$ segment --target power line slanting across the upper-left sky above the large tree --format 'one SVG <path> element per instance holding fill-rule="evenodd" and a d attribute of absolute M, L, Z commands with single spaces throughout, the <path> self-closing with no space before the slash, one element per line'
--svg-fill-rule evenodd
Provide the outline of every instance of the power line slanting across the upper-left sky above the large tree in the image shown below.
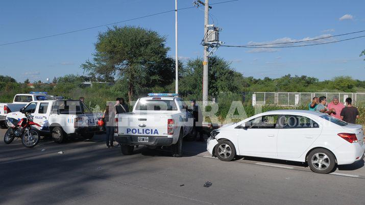
<path fill-rule="evenodd" d="M 225 2 L 217 2 L 217 3 L 213 3 L 211 5 L 224 4 L 224 3 L 237 2 L 237 1 L 239 1 L 239 0 L 231 0 L 231 1 L 225 1 Z M 196 8 L 196 7 L 191 6 L 191 7 L 181 8 L 181 9 L 178 9 L 178 10 L 185 10 L 185 9 L 191 9 L 191 8 Z M 165 14 L 165 13 L 169 13 L 169 12 L 173 12 L 173 11 L 175 11 L 175 9 L 168 10 L 168 11 L 163 11 L 163 12 L 159 12 L 159 13 L 154 13 L 154 14 L 150 14 L 150 15 L 140 16 L 140 17 L 136 17 L 136 18 L 130 18 L 130 19 L 122 20 L 122 21 L 118 21 L 118 22 L 113 22 L 113 23 L 108 23 L 108 24 L 103 24 L 103 25 L 96 25 L 94 27 L 89 27 L 89 28 L 85 28 L 85 29 L 79 29 L 79 30 L 74 30 L 74 31 L 69 31 L 69 32 L 64 32 L 64 33 L 49 35 L 49 36 L 38 37 L 38 38 L 31 38 L 31 39 L 27 39 L 27 40 L 21 40 L 21 41 L 14 41 L 14 42 L 9 42 L 9 43 L 3 43 L 3 44 L 0 44 L 0 46 L 10 45 L 10 44 L 15 44 L 15 43 L 21 43 L 21 42 L 27 42 L 27 41 L 34 41 L 34 40 L 39 40 L 39 39 L 44 39 L 44 38 L 50 38 L 50 37 L 61 36 L 61 35 L 65 35 L 65 34 L 71 34 L 71 33 L 86 31 L 86 30 L 90 30 L 90 29 L 96 29 L 96 28 L 100 28 L 100 27 L 106 27 L 107 25 L 113 25 L 113 24 L 117 24 L 117 23 L 123 23 L 123 22 L 127 22 L 127 21 L 137 20 L 137 19 L 141 19 L 141 18 L 147 18 L 147 17 L 156 16 L 156 15 L 160 15 L 160 14 Z"/>

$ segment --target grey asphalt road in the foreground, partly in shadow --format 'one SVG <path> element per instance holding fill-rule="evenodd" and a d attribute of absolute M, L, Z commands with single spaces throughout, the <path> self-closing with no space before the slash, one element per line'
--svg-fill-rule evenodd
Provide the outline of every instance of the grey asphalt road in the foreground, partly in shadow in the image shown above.
<path fill-rule="evenodd" d="M 184 142 L 182 158 L 147 148 L 123 156 L 98 142 L 103 136 L 25 148 L 20 140 L 6 145 L 4 133 L 2 204 L 365 204 L 363 161 L 334 172 L 342 175 L 315 174 L 301 163 L 221 162 L 207 155 L 203 142 Z"/>

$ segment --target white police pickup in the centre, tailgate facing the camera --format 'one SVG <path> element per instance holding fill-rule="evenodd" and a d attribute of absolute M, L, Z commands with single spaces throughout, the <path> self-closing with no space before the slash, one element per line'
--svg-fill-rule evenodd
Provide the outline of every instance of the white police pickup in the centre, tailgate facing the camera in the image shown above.
<path fill-rule="evenodd" d="M 173 157 L 181 157 L 182 139 L 192 126 L 193 116 L 177 94 L 150 93 L 136 101 L 132 112 L 115 116 L 114 139 L 124 155 L 132 155 L 134 145 L 146 145 L 172 146 Z"/>

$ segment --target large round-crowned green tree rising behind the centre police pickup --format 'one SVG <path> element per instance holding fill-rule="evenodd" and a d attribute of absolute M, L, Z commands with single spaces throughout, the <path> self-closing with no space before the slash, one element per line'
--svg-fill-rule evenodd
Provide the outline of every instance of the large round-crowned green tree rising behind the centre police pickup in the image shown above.
<path fill-rule="evenodd" d="M 109 28 L 99 34 L 92 61 L 81 67 L 98 79 L 123 81 L 131 101 L 136 91 L 174 79 L 174 63 L 167 57 L 165 40 L 157 32 L 140 27 Z"/>

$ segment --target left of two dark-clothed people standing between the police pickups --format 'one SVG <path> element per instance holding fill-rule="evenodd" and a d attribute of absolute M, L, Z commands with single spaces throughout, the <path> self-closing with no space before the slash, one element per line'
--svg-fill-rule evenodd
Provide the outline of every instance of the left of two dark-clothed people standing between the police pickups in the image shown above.
<path fill-rule="evenodd" d="M 108 102 L 107 107 L 105 108 L 103 114 L 103 120 L 105 122 L 105 130 L 106 130 L 106 143 L 107 147 L 114 147 L 114 117 L 115 117 L 115 109 L 112 102 Z"/>

